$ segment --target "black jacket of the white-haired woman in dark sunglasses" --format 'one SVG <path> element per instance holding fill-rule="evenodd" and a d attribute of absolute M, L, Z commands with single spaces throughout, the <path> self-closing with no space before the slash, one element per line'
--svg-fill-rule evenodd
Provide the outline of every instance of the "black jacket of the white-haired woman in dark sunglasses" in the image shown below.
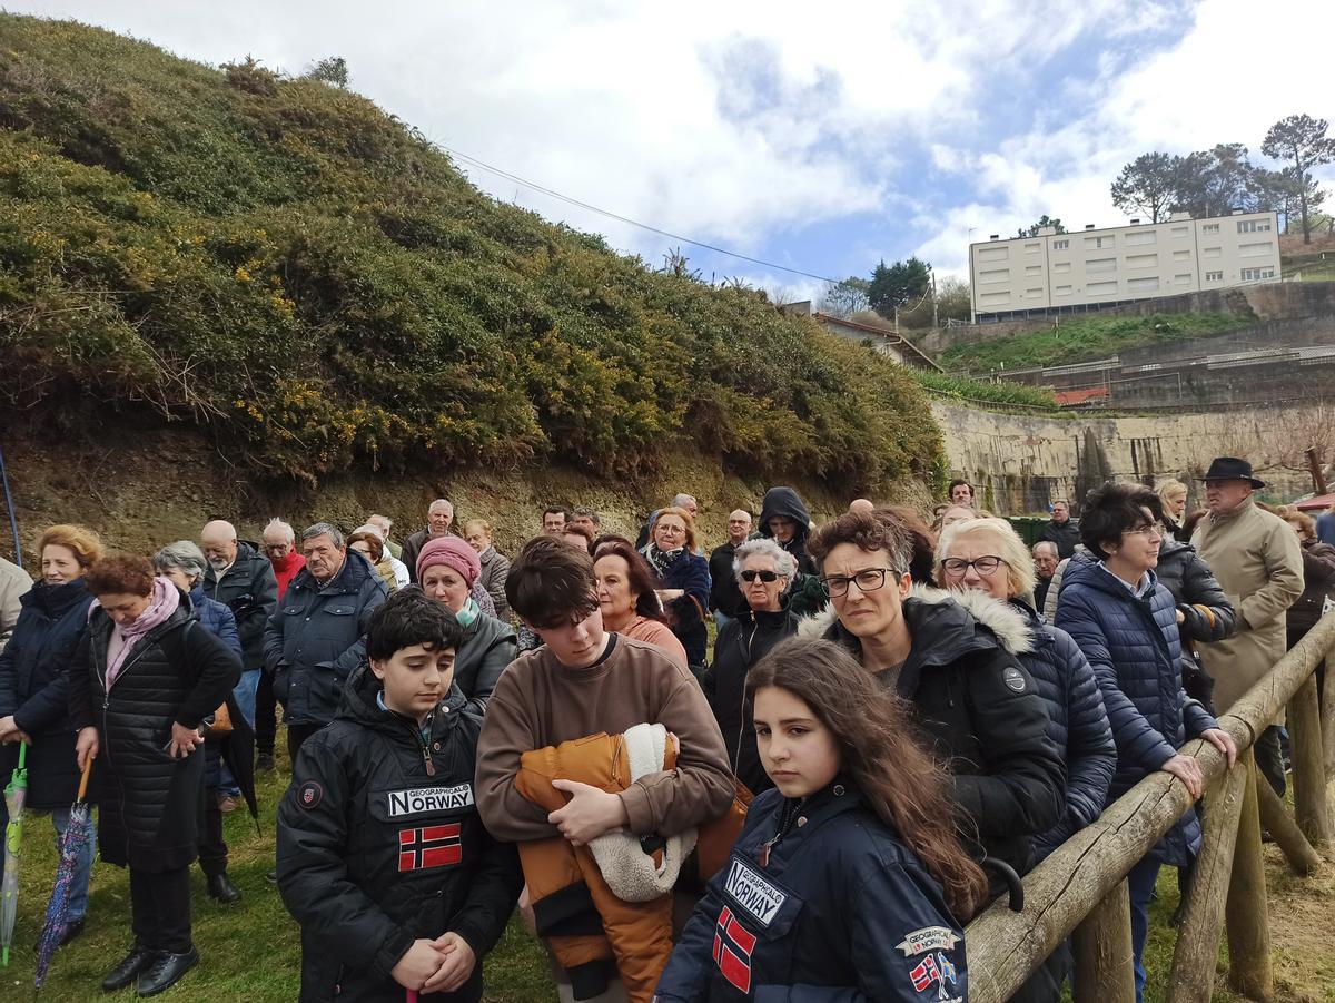
<path fill-rule="evenodd" d="M 714 664 L 701 678 L 709 708 L 724 733 L 728 763 L 753 793 L 774 784 L 760 763 L 752 705 L 746 698 L 746 673 L 785 637 L 797 633 L 801 617 L 789 609 L 753 613 L 750 606 L 724 628 L 714 642 Z"/>

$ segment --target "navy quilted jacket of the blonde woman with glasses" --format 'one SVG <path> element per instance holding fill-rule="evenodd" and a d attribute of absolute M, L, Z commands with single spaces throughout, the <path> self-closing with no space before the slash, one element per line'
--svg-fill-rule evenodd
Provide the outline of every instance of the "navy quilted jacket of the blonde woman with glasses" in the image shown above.
<path fill-rule="evenodd" d="M 1048 737 L 1067 760 L 1067 807 L 1061 821 L 1033 839 L 1041 860 L 1103 813 L 1117 768 L 1117 747 L 1093 668 L 1061 628 L 1048 626 L 1024 602 L 1012 602 L 1029 625 L 1029 650 L 1020 664 L 1048 705 Z"/>

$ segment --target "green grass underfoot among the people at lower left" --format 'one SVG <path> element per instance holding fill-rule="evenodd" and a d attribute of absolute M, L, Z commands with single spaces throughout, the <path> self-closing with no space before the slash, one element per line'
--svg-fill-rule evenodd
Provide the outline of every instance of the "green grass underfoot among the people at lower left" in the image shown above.
<path fill-rule="evenodd" d="M 279 744 L 282 745 L 282 736 Z M 228 873 L 242 891 L 235 906 L 219 906 L 204 893 L 204 879 L 192 868 L 194 932 L 202 962 L 163 1000 L 246 1000 L 291 1003 L 300 984 L 300 938 L 283 908 L 278 888 L 264 880 L 274 865 L 274 817 L 287 784 L 279 773 L 262 779 L 260 825 L 244 811 L 226 816 Z M 9 968 L 0 970 L 0 1000 L 32 999 L 35 946 L 41 930 L 56 851 L 48 817 L 29 816 L 23 841 L 19 922 Z M 91 1000 L 99 983 L 129 948 L 128 873 L 100 860 L 93 867 L 88 926 L 83 936 L 56 952 L 41 1000 Z M 519 922 L 511 920 L 486 959 L 486 999 L 493 1003 L 551 1003 L 557 999 L 542 948 Z M 107 999 L 134 998 L 132 992 Z"/>

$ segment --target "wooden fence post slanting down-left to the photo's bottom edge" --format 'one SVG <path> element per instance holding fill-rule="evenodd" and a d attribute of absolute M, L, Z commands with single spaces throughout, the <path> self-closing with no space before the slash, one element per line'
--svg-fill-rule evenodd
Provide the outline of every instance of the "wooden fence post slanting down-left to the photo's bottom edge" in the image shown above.
<path fill-rule="evenodd" d="M 1187 893 L 1187 915 L 1177 934 L 1168 982 L 1169 1003 L 1210 1003 L 1215 992 L 1219 934 L 1224 924 L 1238 821 L 1247 768 L 1238 764 L 1206 793 L 1204 840 Z"/>

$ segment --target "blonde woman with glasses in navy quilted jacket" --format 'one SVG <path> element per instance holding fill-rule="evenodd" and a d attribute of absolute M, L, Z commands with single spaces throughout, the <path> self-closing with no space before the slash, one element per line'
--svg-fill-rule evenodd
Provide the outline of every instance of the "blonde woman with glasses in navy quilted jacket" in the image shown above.
<path fill-rule="evenodd" d="M 1029 605 L 1033 561 L 1009 522 L 995 517 L 949 526 L 936 546 L 937 584 L 959 593 L 977 614 L 988 604 L 1015 614 L 997 637 L 1029 670 L 1048 708 L 1048 736 L 1067 764 L 1067 799 L 1061 821 L 1035 837 L 1043 860 L 1103 813 L 1117 765 L 1117 748 L 1103 707 L 1099 681 L 1071 634 L 1043 622 Z"/>

